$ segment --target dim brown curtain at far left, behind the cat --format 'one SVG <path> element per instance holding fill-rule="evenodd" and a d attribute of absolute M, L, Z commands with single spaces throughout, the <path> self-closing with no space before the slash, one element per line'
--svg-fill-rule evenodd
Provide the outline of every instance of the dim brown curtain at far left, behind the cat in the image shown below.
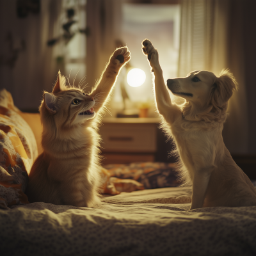
<path fill-rule="evenodd" d="M 1 1 L 0 5 L 0 59 L 12 58 L 12 52 L 20 48 L 21 41 L 26 45 L 17 55 L 13 67 L 1 63 L 0 88 L 12 93 L 18 108 L 36 111 L 43 90 L 51 90 L 58 72 L 54 49 L 47 46 L 47 40 L 57 36 L 56 21 L 61 0 L 41 1 L 40 13 L 29 13 L 23 19 L 17 17 L 16 1 Z M 12 51 L 6 41 L 8 33 L 13 38 Z"/>

